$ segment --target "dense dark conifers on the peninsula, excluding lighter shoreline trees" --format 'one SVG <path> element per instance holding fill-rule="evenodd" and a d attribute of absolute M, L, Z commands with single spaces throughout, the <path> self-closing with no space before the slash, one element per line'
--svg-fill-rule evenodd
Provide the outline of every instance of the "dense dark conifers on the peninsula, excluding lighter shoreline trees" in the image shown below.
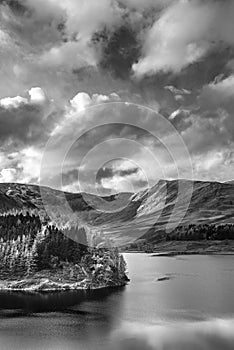
<path fill-rule="evenodd" d="M 0 271 L 2 276 L 29 275 L 61 267 L 62 262 L 79 263 L 87 253 L 84 228 L 59 230 L 42 225 L 27 213 L 0 216 Z"/>

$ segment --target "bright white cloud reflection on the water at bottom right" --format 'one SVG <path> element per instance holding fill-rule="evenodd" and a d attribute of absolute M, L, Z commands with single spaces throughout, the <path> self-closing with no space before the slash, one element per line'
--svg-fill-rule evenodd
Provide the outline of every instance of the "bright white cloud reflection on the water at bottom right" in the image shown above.
<path fill-rule="evenodd" d="M 125 324 L 113 336 L 113 350 L 233 350 L 234 319 Z"/>

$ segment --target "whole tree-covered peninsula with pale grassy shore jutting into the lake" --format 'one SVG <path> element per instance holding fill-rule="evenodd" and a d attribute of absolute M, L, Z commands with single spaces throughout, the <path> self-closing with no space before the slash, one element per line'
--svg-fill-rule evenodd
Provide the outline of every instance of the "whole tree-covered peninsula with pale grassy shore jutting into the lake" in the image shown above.
<path fill-rule="evenodd" d="M 35 214 L 0 216 L 0 290 L 97 289 L 127 283 L 115 248 L 88 247 L 84 227 L 59 229 Z"/>

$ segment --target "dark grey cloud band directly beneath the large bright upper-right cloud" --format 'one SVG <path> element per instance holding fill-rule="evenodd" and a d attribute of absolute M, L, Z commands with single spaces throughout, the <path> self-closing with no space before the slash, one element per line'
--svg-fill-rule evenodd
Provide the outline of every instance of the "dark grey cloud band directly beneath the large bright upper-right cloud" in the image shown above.
<path fill-rule="evenodd" d="M 227 77 L 230 74 L 227 63 L 232 57 L 234 57 L 233 50 L 221 45 L 218 50 L 210 52 L 199 62 L 186 67 L 180 74 L 159 72 L 136 81 L 136 86 L 145 100 L 158 101 L 160 108 L 169 110 L 171 113 L 172 109 L 175 110 L 181 105 L 194 104 L 199 90 L 212 82 L 220 73 Z M 186 89 L 191 91 L 191 94 L 184 96 L 182 102 L 176 101 L 175 94 L 165 90 L 168 85 L 177 89 Z"/>

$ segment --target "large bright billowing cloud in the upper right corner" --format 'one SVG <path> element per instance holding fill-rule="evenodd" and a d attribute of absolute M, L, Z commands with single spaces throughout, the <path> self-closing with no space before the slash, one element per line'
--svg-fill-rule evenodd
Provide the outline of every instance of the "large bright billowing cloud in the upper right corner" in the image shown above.
<path fill-rule="evenodd" d="M 234 6 L 227 2 L 180 0 L 172 3 L 146 35 L 136 76 L 179 73 L 220 42 L 233 45 Z"/>

